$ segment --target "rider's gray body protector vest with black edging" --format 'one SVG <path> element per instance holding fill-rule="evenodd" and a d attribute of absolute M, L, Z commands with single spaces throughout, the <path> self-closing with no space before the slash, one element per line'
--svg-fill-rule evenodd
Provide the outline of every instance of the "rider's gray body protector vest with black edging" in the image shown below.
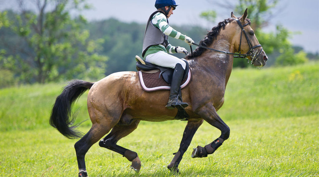
<path fill-rule="evenodd" d="M 144 58 L 144 55 L 145 55 L 147 49 L 150 48 L 151 46 L 156 46 L 156 45 L 161 44 L 166 48 L 168 45 L 168 40 L 167 40 L 168 36 L 166 34 L 164 34 L 162 31 L 160 31 L 159 28 L 155 27 L 152 24 L 152 21 L 151 21 L 152 17 L 157 12 L 163 13 L 165 15 L 165 13 L 163 11 L 155 11 L 154 13 L 152 13 L 150 18 L 148 19 L 147 25 L 145 28 L 144 39 L 143 39 L 143 50 L 142 50 L 143 51 L 142 52 L 143 58 Z M 168 24 L 168 20 L 167 20 L 167 24 Z"/>

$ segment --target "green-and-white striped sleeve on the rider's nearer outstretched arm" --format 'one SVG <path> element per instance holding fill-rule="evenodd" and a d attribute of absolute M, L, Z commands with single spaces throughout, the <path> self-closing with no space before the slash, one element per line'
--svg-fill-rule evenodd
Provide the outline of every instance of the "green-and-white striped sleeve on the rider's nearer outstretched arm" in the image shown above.
<path fill-rule="evenodd" d="M 158 27 L 164 34 L 175 39 L 185 39 L 185 35 L 174 30 L 171 26 L 167 24 L 167 19 L 164 14 L 158 12 L 152 18 L 152 24 Z"/>

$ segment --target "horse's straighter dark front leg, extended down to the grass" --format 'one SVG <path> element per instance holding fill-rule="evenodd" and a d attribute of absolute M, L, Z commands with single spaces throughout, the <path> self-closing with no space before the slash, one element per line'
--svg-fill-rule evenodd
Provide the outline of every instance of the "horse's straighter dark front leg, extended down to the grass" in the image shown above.
<path fill-rule="evenodd" d="M 178 152 L 174 153 L 175 156 L 171 163 L 167 166 L 169 170 L 174 170 L 175 172 L 178 172 L 178 165 L 182 160 L 182 157 L 184 153 L 186 152 L 190 142 L 192 141 L 192 138 L 197 131 L 198 127 L 203 123 L 203 119 L 189 119 L 187 122 L 187 125 L 185 127 L 183 138 L 180 144 L 180 148 L 178 149 Z"/>

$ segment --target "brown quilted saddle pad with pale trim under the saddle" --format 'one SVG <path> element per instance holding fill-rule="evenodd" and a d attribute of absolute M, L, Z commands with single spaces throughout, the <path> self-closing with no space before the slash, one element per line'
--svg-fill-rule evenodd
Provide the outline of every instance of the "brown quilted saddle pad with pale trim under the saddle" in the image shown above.
<path fill-rule="evenodd" d="M 143 90 L 147 92 L 155 91 L 155 90 L 170 90 L 171 87 L 169 84 L 164 80 L 163 76 L 160 75 L 160 71 L 156 73 L 145 73 L 142 71 L 138 71 L 138 76 L 140 78 L 140 83 Z M 181 87 L 184 88 L 189 84 L 191 79 L 190 70 L 188 75 L 185 79 L 182 80 Z"/>

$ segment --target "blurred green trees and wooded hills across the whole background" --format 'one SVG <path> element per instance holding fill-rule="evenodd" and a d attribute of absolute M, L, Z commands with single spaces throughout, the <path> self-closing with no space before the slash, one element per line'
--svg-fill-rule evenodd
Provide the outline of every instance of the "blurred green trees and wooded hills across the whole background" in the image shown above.
<path fill-rule="evenodd" d="M 88 7 L 85 0 L 35 0 L 33 2 L 39 2 L 38 10 L 26 10 L 23 4 L 26 0 L 18 1 L 21 2 L 20 11 L 0 12 L 1 87 L 69 79 L 95 81 L 114 72 L 136 71 L 134 57 L 142 53 L 145 24 L 124 23 L 114 18 L 92 22 L 86 22 L 82 16 L 71 18 L 70 11 L 81 11 Z M 218 1 L 215 5 L 222 3 L 224 1 Z M 238 8 L 241 6 L 238 5 Z M 267 11 L 259 15 L 263 18 L 255 18 L 263 19 L 255 33 L 269 57 L 267 66 L 297 64 L 307 61 L 307 57 L 318 60 L 318 53 L 305 56 L 302 48 L 292 47 L 289 42 L 292 33 L 283 26 L 278 25 L 275 32 L 263 32 L 262 27 L 267 24 L 264 15 L 273 7 L 270 5 L 265 8 L 262 3 L 259 6 L 259 9 Z M 240 16 L 243 11 L 238 9 L 235 15 Z M 253 14 L 255 10 L 251 11 Z M 209 18 L 210 15 L 213 18 Z M 215 18 L 211 12 L 203 13 L 202 16 L 211 20 Z M 249 18 L 253 25 L 254 15 L 249 14 Z M 196 43 L 207 34 L 206 29 L 200 26 L 173 25 L 173 28 L 191 36 Z M 182 40 L 169 38 L 169 42 L 190 51 Z M 185 56 L 174 55 L 179 58 Z M 235 59 L 236 66 L 248 67 L 250 64 L 247 60 Z"/>

